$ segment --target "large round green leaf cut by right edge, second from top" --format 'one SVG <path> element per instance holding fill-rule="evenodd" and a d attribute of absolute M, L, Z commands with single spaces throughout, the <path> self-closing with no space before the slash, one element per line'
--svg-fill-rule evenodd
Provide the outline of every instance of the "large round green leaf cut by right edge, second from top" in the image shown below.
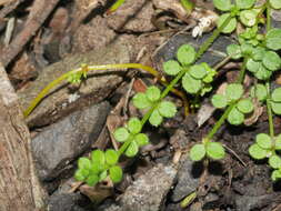
<path fill-rule="evenodd" d="M 265 44 L 269 49 L 280 50 L 281 49 L 281 29 L 271 29 L 265 36 Z"/>

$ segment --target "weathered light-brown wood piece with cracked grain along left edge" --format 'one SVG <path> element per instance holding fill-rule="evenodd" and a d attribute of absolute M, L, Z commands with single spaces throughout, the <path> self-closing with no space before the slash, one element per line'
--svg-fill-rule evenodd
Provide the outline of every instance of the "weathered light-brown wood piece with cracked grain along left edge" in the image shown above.
<path fill-rule="evenodd" d="M 0 113 L 0 210 L 36 210 L 43 205 L 44 192 L 34 174 L 30 133 L 2 66 Z"/>

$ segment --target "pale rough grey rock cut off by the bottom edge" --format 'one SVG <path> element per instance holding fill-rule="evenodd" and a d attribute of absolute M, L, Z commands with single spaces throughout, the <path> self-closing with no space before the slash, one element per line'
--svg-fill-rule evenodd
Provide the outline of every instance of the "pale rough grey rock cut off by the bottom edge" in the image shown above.
<path fill-rule="evenodd" d="M 177 175 L 172 165 L 158 164 L 141 175 L 121 197 L 119 205 L 104 211 L 160 211 Z"/>

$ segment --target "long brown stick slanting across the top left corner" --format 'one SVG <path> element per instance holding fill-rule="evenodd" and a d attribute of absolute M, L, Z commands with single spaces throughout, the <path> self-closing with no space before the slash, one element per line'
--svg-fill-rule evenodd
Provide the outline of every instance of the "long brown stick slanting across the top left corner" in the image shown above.
<path fill-rule="evenodd" d="M 7 67 L 40 29 L 60 0 L 36 0 L 22 31 L 1 52 L 0 61 Z"/>

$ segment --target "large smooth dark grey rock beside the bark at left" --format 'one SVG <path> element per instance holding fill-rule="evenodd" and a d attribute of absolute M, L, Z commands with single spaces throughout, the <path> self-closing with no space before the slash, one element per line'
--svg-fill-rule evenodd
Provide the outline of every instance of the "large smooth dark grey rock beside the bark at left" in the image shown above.
<path fill-rule="evenodd" d="M 38 175 L 42 181 L 57 178 L 68 164 L 90 148 L 110 111 L 108 102 L 77 111 L 39 133 L 32 142 Z"/>

